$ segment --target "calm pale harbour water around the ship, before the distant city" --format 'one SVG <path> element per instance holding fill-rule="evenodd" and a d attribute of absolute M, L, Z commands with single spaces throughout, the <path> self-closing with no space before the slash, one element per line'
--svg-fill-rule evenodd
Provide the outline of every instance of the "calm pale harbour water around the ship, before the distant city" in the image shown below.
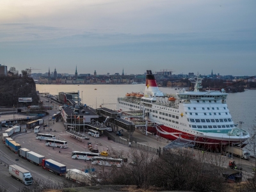
<path fill-rule="evenodd" d="M 95 90 L 97 89 L 97 90 Z M 109 109 L 116 109 L 118 97 L 124 97 L 126 93 L 143 92 L 145 84 L 36 84 L 39 92 L 57 95 L 58 92 L 77 92 L 84 104 L 99 108 L 100 105 Z M 179 90 L 174 88 L 159 87 L 164 93 L 175 94 Z M 82 93 L 83 92 L 83 93 Z M 234 123 L 244 122 L 243 129 L 249 130 L 256 124 L 256 90 L 246 90 L 242 93 L 229 93 L 227 104 Z M 102 107 L 103 107 L 102 106 Z"/>

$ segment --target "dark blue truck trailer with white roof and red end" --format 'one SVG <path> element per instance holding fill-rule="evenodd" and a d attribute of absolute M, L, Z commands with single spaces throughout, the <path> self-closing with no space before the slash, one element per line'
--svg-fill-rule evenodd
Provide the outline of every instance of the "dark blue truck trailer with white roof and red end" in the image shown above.
<path fill-rule="evenodd" d="M 54 173 L 55 175 L 64 175 L 67 170 L 65 164 L 58 163 L 52 159 L 43 159 L 42 168 Z"/>

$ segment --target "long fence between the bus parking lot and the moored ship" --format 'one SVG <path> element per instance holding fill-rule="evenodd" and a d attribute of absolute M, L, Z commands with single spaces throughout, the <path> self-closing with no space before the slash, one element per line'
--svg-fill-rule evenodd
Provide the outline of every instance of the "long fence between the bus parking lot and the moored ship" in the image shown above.
<path fill-rule="evenodd" d="M 113 136 L 108 131 L 104 131 L 104 134 L 116 143 L 120 143 L 120 144 L 126 145 L 126 146 L 130 145 L 129 141 L 127 141 L 125 138 Z M 135 141 L 131 142 L 131 147 L 138 148 L 138 149 L 141 149 L 141 150 L 146 150 L 148 152 L 157 153 L 156 148 L 149 147 L 147 145 L 142 145 L 142 144 L 136 143 Z"/>

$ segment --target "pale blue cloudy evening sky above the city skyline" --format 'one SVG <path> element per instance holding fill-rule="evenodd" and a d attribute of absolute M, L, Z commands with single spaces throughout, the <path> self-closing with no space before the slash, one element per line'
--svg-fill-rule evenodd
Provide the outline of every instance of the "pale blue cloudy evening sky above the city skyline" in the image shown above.
<path fill-rule="evenodd" d="M 256 75 L 256 1 L 1 0 L 0 63 L 74 74 Z"/>

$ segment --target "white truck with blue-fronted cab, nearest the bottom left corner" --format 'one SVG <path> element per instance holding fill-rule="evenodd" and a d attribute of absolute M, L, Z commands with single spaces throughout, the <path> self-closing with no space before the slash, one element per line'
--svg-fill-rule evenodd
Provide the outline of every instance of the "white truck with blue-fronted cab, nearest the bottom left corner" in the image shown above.
<path fill-rule="evenodd" d="M 19 180 L 26 186 L 33 184 L 31 173 L 16 164 L 9 165 L 9 174 L 12 175 L 13 179 Z"/>

